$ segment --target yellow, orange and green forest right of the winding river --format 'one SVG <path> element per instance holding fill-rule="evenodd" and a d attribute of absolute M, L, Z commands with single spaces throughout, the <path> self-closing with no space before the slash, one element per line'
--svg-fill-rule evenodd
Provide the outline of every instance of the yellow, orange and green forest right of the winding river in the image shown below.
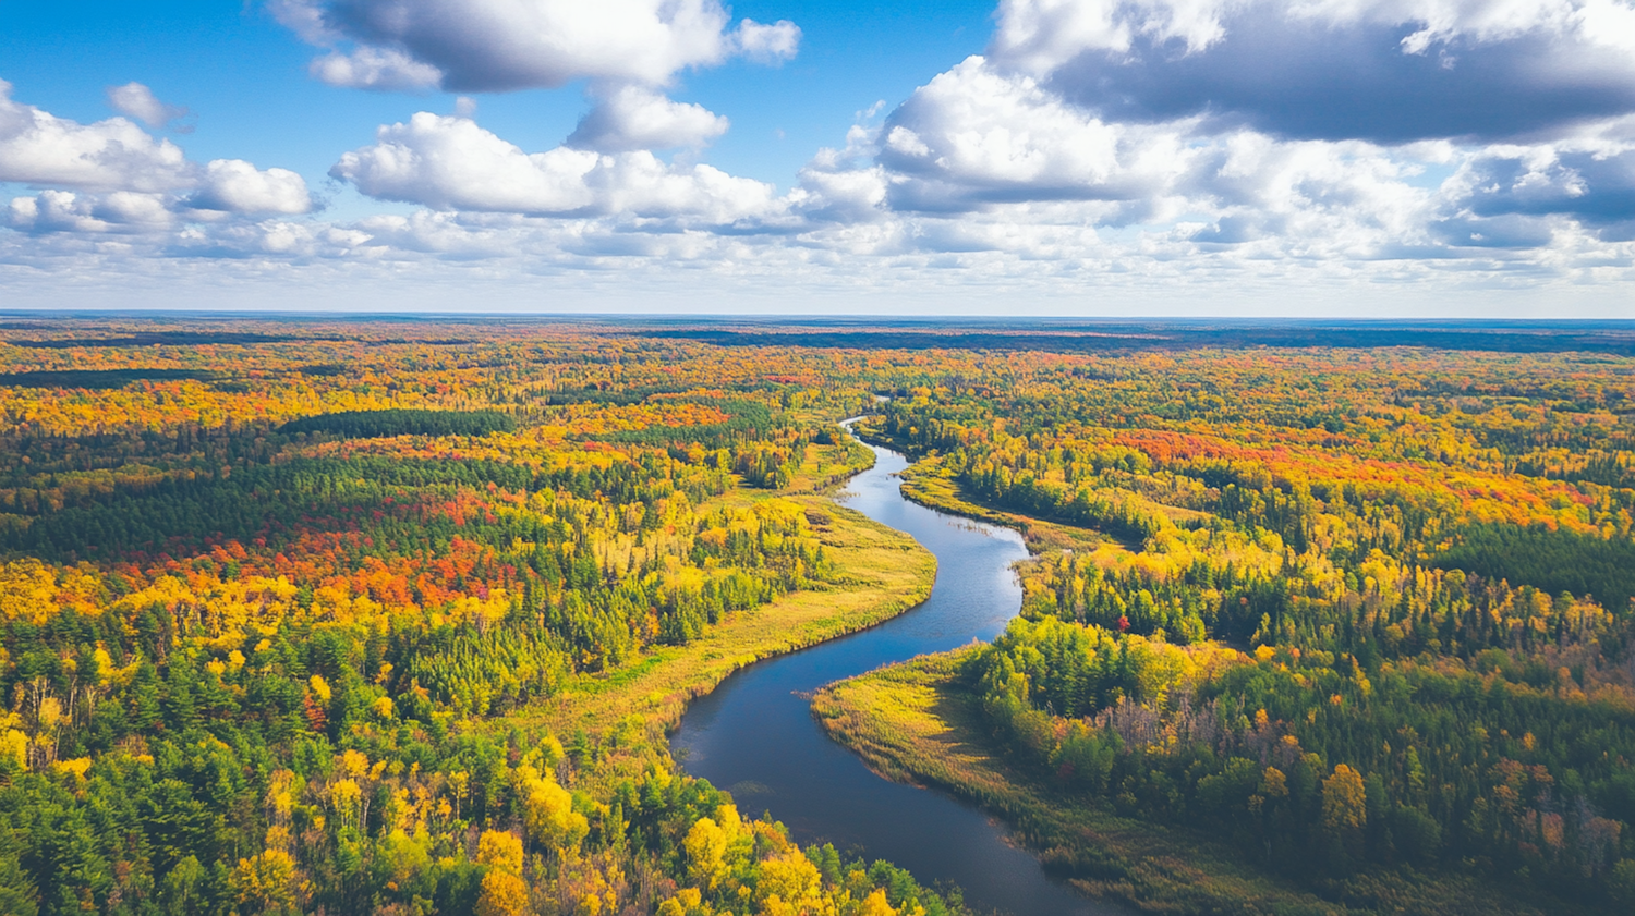
<path fill-rule="evenodd" d="M 1019 759 L 1295 877 L 1635 905 L 1627 361 L 1012 359 L 904 394 L 909 491 L 1043 522 L 966 671 Z"/>

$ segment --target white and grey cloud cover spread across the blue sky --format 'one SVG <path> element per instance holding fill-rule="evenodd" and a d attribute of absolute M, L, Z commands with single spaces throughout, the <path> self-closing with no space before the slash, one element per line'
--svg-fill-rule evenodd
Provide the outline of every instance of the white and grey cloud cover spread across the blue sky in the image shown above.
<path fill-rule="evenodd" d="M 276 10 L 334 85 L 585 80 L 590 111 L 540 152 L 469 104 L 384 124 L 329 175 L 422 209 L 329 222 L 302 216 L 291 171 L 193 163 L 131 119 L 78 124 L 0 91 L 0 181 L 36 189 L 11 201 L 21 233 L 0 233 L 0 260 L 88 256 L 123 233 L 132 258 L 685 269 L 778 289 L 1635 279 L 1628 0 L 1002 0 L 981 56 L 860 121 L 782 191 L 697 162 L 728 119 L 665 90 L 732 57 L 790 59 L 790 23 L 734 24 L 706 0 Z M 173 119 L 128 95 L 129 118 Z"/>

